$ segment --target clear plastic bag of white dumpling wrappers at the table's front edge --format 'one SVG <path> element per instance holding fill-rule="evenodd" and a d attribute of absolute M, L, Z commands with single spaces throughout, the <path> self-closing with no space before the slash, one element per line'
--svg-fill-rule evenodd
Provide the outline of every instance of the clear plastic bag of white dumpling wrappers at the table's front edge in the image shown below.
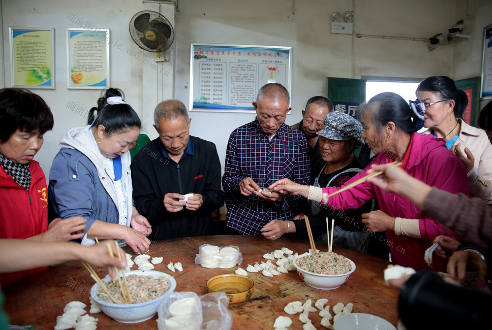
<path fill-rule="evenodd" d="M 169 306 L 171 306 L 173 302 L 187 297 L 195 298 L 195 304 L 192 308 L 191 317 L 184 324 L 180 323 L 177 327 L 175 324 L 173 326 L 172 322 L 166 322 L 166 320 L 173 317 L 173 315 L 169 312 Z M 194 292 L 175 291 L 169 297 L 162 300 L 161 304 L 157 308 L 157 315 L 159 316 L 157 318 L 157 329 L 159 330 L 199 330 L 200 325 L 202 324 L 202 305 L 200 297 L 198 297 L 198 295 Z"/>

